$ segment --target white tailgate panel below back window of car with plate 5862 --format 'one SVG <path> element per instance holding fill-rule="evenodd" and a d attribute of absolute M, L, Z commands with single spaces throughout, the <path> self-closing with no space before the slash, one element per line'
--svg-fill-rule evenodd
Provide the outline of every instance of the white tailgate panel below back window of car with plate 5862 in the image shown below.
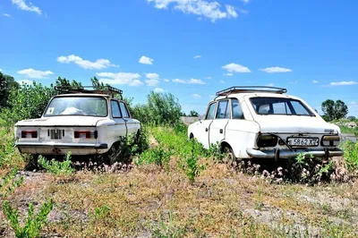
<path fill-rule="evenodd" d="M 255 121 L 262 133 L 340 133 L 337 125 L 314 116 L 260 115 Z"/>

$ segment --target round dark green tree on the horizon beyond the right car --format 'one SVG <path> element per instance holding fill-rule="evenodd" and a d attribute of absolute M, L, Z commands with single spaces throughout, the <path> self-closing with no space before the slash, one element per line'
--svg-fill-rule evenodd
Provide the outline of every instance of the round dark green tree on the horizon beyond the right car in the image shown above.
<path fill-rule="evenodd" d="M 342 100 L 337 100 L 336 102 L 327 99 L 322 102 L 322 112 L 327 117 L 328 121 L 338 120 L 344 118 L 348 114 L 348 106 L 345 105 L 345 102 Z"/>

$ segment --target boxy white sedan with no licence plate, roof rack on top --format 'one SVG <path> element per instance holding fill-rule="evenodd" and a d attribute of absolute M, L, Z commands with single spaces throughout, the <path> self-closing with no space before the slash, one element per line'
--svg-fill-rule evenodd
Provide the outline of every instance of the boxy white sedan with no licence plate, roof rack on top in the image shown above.
<path fill-rule="evenodd" d="M 139 135 L 141 123 L 133 119 L 122 97 L 112 87 L 85 89 L 56 87 L 41 118 L 15 124 L 15 147 L 31 155 L 110 155 L 122 138 Z M 64 93 L 65 92 L 65 93 Z"/>

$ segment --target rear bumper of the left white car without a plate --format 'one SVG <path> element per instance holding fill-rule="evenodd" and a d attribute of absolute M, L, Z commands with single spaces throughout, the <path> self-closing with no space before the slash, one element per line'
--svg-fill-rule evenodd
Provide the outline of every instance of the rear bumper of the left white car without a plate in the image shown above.
<path fill-rule="evenodd" d="M 32 155 L 65 155 L 71 151 L 72 155 L 96 155 L 106 153 L 106 143 L 54 143 L 54 142 L 16 142 L 15 147 L 21 153 Z"/>

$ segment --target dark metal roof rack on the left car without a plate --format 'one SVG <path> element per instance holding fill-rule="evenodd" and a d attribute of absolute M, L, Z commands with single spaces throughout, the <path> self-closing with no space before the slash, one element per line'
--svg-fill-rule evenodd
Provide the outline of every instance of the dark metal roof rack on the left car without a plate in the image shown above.
<path fill-rule="evenodd" d="M 115 95 L 120 95 L 121 98 L 123 91 L 121 89 L 115 89 L 111 86 L 100 86 L 100 89 L 96 89 L 93 86 L 55 86 L 55 90 L 58 91 L 59 94 L 64 93 L 98 93 L 98 94 L 106 94 L 115 97 Z"/>

